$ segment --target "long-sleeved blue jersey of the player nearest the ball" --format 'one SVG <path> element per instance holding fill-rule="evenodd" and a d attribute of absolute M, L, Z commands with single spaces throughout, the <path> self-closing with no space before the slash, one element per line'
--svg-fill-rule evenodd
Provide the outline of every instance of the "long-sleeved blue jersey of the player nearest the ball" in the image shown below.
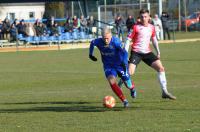
<path fill-rule="evenodd" d="M 90 44 L 90 55 L 93 55 L 94 46 L 96 46 L 100 51 L 104 68 L 116 67 L 122 65 L 123 63 L 128 63 L 128 54 L 123 49 L 123 44 L 119 38 L 112 37 L 108 45 L 105 44 L 103 38 L 93 40 Z"/>

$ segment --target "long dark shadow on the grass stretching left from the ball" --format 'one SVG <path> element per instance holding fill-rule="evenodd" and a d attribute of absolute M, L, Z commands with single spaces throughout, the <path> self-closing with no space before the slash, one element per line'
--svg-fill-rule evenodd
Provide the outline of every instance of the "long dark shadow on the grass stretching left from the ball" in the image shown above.
<path fill-rule="evenodd" d="M 0 113 L 26 113 L 26 112 L 106 112 L 106 111 L 123 111 L 123 107 L 115 107 L 112 109 L 104 108 L 103 106 L 94 106 L 98 102 L 21 102 L 21 103 L 3 103 L 3 105 L 20 105 L 20 107 L 29 108 L 13 108 L 0 109 Z M 41 106 L 38 106 L 40 105 Z M 46 106 L 46 105 L 56 106 Z M 66 104 L 66 106 L 58 106 Z M 21 106 L 22 105 L 22 106 Z M 37 105 L 35 107 L 34 105 Z M 42 106 L 44 105 L 44 106 Z"/>

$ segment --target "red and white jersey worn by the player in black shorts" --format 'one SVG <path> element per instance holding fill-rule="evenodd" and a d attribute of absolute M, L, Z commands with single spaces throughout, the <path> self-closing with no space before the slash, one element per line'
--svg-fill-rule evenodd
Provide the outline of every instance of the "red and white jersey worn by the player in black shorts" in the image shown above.
<path fill-rule="evenodd" d="M 132 39 L 133 42 L 131 50 L 144 54 L 152 52 L 150 40 L 153 37 L 155 37 L 155 27 L 152 24 L 148 24 L 148 26 L 142 24 L 134 25 L 132 33 L 128 35 L 128 38 Z"/>

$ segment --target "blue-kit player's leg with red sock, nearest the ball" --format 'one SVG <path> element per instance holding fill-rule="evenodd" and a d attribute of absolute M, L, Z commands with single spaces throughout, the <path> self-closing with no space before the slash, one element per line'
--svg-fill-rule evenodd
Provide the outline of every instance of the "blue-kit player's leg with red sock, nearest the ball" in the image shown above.
<path fill-rule="evenodd" d="M 116 80 L 117 72 L 113 69 L 105 69 L 105 75 L 106 75 L 106 78 L 107 78 L 113 92 L 123 102 L 124 107 L 127 107 L 128 101 L 127 101 L 126 97 L 124 96 L 120 87 L 117 85 L 117 80 Z"/>

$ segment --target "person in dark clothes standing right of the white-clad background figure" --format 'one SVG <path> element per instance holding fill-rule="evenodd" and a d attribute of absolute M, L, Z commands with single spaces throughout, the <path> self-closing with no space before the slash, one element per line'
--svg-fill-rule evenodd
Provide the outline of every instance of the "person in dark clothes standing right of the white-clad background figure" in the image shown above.
<path fill-rule="evenodd" d="M 162 21 L 162 27 L 163 27 L 164 40 L 166 40 L 166 33 L 167 33 L 168 39 L 170 40 L 169 15 L 167 14 L 167 12 L 162 12 L 161 21 Z"/>

